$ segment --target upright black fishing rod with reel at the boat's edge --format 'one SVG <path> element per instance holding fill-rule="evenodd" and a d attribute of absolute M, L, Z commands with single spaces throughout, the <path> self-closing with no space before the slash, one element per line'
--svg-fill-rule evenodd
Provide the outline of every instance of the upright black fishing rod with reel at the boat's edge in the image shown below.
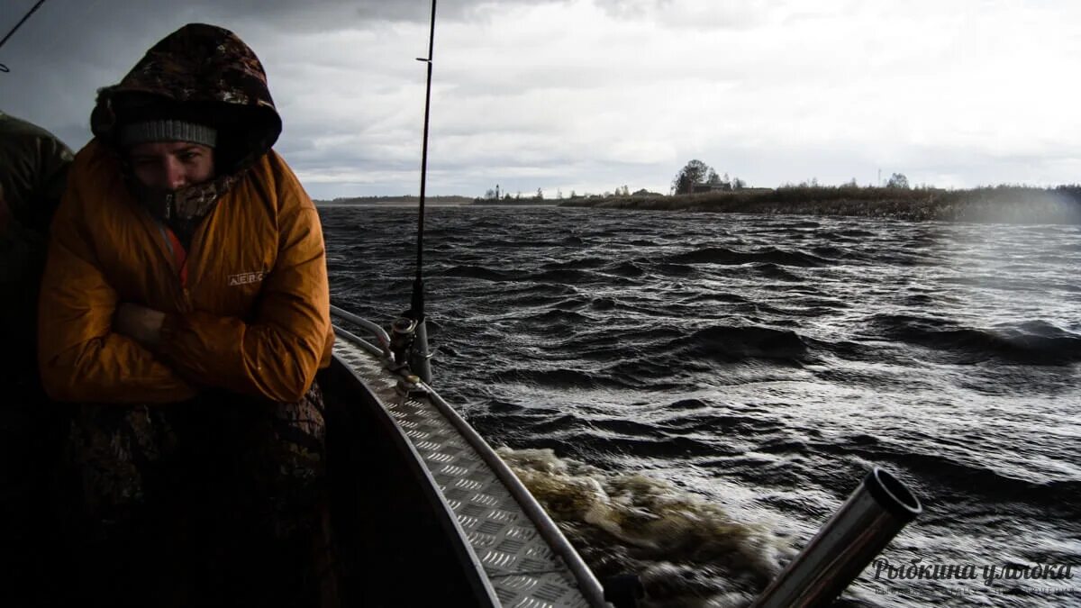
<path fill-rule="evenodd" d="M 416 220 L 416 278 L 410 309 L 391 323 L 390 351 L 395 361 L 408 366 L 410 371 L 431 382 L 431 353 L 428 351 L 428 327 L 424 314 L 424 207 L 428 183 L 428 123 L 431 116 L 431 66 L 436 45 L 436 0 L 431 0 L 431 22 L 428 30 L 428 56 L 417 57 L 428 66 L 428 82 L 424 97 L 424 135 L 421 146 L 421 198 Z"/>

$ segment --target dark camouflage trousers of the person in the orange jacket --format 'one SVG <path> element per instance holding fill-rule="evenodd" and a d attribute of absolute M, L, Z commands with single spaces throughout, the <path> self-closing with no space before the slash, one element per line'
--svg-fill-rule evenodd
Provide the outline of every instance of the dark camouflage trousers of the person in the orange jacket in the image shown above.
<path fill-rule="evenodd" d="M 138 561 L 158 555 L 172 561 L 147 576 L 168 571 L 168 580 L 147 584 L 173 589 L 176 605 L 254 602 L 253 589 L 267 594 L 261 605 L 311 605 L 323 584 L 311 566 L 332 561 L 324 438 L 316 384 L 295 404 L 213 393 L 170 405 L 81 406 L 69 448 L 85 546 L 121 554 L 118 565 L 135 556 L 123 569 L 93 573 L 99 581 L 91 584 L 142 578 L 132 574 L 149 567 Z M 199 591 L 186 596 L 177 576 Z"/>

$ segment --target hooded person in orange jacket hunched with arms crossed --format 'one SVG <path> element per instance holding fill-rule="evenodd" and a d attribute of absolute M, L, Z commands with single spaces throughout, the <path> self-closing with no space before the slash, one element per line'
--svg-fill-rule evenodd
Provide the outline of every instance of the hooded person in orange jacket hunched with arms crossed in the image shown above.
<path fill-rule="evenodd" d="M 238 546 L 307 555 L 330 294 L 319 215 L 271 149 L 281 119 L 262 64 L 232 32 L 187 25 L 98 91 L 91 130 L 52 224 L 38 346 L 46 393 L 80 404 L 71 449 L 97 538 L 137 542 L 125 524 L 184 504 L 211 545 L 255 530 L 193 579 L 239 576 Z M 91 584 L 116 593 L 137 568 Z"/>

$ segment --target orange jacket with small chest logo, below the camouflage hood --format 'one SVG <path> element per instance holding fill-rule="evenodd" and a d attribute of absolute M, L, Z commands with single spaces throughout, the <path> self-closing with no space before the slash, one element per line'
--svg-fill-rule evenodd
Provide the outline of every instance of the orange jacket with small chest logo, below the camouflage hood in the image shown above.
<path fill-rule="evenodd" d="M 186 283 L 166 234 L 106 146 L 76 156 L 39 308 L 49 395 L 171 402 L 206 386 L 299 400 L 330 362 L 333 330 L 319 215 L 285 162 L 268 151 L 218 200 L 192 238 Z M 125 302 L 166 313 L 159 352 L 112 331 Z"/>

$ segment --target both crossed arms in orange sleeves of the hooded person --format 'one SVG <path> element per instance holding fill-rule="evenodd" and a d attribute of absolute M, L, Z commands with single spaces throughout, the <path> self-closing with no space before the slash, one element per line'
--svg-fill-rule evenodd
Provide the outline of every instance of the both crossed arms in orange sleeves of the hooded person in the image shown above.
<path fill-rule="evenodd" d="M 276 266 L 245 322 L 121 302 L 96 264 L 77 197 L 69 190 L 53 223 L 39 305 L 39 362 L 53 398 L 170 402 L 204 386 L 303 397 L 331 340 L 325 253 L 310 202 L 281 219 Z"/>

